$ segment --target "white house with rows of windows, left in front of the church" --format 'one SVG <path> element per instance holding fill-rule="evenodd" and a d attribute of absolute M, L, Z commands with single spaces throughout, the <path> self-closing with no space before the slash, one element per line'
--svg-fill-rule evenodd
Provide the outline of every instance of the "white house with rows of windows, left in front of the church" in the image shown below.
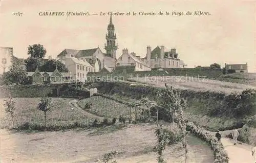
<path fill-rule="evenodd" d="M 87 79 L 87 73 L 95 72 L 94 67 L 85 59 L 66 55 L 64 61 L 69 72 L 71 72 L 72 79 L 84 82 Z"/>

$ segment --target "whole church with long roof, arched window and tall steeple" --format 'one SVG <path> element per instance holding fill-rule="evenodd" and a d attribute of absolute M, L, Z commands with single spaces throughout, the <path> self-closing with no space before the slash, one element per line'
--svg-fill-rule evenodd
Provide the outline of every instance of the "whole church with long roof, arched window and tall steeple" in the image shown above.
<path fill-rule="evenodd" d="M 106 53 L 103 53 L 99 47 L 86 50 L 65 49 L 57 56 L 57 59 L 66 65 L 65 57 L 71 56 L 89 62 L 94 67 L 94 72 L 100 72 L 102 69 L 112 72 L 115 69 L 116 50 L 118 49 L 112 15 L 107 30 L 104 45 Z"/>

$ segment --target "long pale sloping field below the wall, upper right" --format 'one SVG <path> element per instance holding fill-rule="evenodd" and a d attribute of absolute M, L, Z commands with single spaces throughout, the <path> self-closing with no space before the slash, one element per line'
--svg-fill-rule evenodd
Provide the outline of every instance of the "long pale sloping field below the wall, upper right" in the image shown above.
<path fill-rule="evenodd" d="M 230 92 L 242 91 L 247 88 L 256 89 L 256 86 L 253 85 L 185 76 L 152 76 L 145 78 L 130 78 L 129 80 L 144 84 L 152 84 L 161 87 L 163 87 L 164 84 L 167 83 L 179 89 L 220 91 L 225 92 L 227 94 L 229 94 Z"/>

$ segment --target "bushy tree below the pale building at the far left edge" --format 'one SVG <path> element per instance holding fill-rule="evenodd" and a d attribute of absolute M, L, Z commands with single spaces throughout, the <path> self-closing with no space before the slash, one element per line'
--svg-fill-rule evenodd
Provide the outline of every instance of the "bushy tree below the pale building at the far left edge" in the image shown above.
<path fill-rule="evenodd" d="M 14 63 L 8 72 L 3 74 L 5 85 L 12 83 L 22 84 L 27 78 L 27 72 L 22 64 Z"/>

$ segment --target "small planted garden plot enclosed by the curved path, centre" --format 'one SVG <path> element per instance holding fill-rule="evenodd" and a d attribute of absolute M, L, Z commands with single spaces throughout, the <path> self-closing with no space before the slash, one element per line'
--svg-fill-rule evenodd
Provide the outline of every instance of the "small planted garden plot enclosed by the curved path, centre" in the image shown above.
<path fill-rule="evenodd" d="M 119 118 L 119 115 L 130 114 L 129 106 L 103 97 L 95 96 L 78 101 L 78 105 L 81 108 L 84 108 L 84 105 L 87 103 L 92 103 L 92 106 L 90 109 L 86 110 L 100 117 Z"/>

